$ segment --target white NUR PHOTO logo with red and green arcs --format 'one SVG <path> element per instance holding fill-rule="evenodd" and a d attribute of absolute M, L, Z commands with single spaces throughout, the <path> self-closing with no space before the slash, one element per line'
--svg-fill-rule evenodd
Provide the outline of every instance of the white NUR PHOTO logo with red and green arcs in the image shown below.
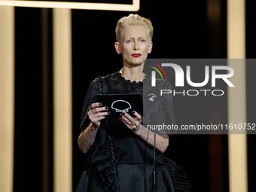
<path fill-rule="evenodd" d="M 200 59 L 199 59 L 200 60 Z M 160 60 L 161 62 L 161 60 Z M 158 62 L 158 63 L 160 63 Z M 202 61 L 201 61 L 202 62 Z M 219 65 L 204 65 L 204 79 L 200 82 L 194 82 L 191 80 L 192 75 L 198 75 L 198 72 L 192 72 L 193 65 L 186 65 L 185 72 L 182 67 L 176 63 L 173 62 L 161 62 L 160 64 L 157 64 L 156 62 L 148 61 L 148 67 L 151 69 L 150 75 L 151 75 L 151 87 L 156 87 L 157 82 L 157 73 L 160 75 L 162 79 L 167 80 L 169 77 L 168 72 L 166 72 L 166 69 L 172 70 L 175 73 L 175 87 L 184 87 L 184 82 L 187 83 L 190 87 L 200 87 L 200 89 L 189 89 L 189 90 L 160 90 L 160 96 L 163 96 L 163 94 L 170 94 L 172 93 L 173 96 L 175 95 L 183 95 L 183 96 L 198 96 L 200 94 L 203 94 L 204 96 L 207 96 L 207 94 L 212 94 L 212 96 L 223 96 L 224 90 L 209 90 L 209 89 L 203 89 L 207 84 L 211 83 L 211 87 L 216 87 L 216 80 L 220 79 L 223 81 L 227 86 L 229 87 L 235 87 L 235 85 L 229 80 L 234 75 L 234 70 L 230 66 L 219 66 Z M 206 62 L 207 63 L 207 62 Z M 216 63 L 218 64 L 218 63 Z M 202 68 L 202 66 L 201 66 Z M 154 70 L 152 70 L 154 69 Z M 210 70 L 211 69 L 211 70 Z M 211 71 L 211 72 L 210 72 Z M 222 73 L 218 73 L 222 72 Z M 193 74 L 195 73 L 195 74 Z M 202 75 L 202 74 L 201 74 Z M 186 78 L 184 78 L 184 76 Z M 186 81 L 185 81 L 186 80 Z"/>

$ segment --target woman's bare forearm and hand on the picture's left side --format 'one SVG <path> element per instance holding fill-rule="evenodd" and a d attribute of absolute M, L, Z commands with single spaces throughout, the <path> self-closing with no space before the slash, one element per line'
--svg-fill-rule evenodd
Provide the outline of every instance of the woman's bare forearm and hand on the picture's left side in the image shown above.
<path fill-rule="evenodd" d="M 86 129 L 83 129 L 80 136 L 78 137 L 78 146 L 83 153 L 87 153 L 96 138 L 96 133 L 99 129 L 102 119 L 109 114 L 107 107 L 101 107 L 101 103 L 93 103 L 88 111 L 88 117 L 91 121 Z"/>

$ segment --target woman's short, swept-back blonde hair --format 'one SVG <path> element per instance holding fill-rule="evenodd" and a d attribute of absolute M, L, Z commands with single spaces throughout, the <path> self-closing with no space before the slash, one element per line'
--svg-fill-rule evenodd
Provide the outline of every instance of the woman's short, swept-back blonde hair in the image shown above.
<path fill-rule="evenodd" d="M 123 38 L 123 31 L 128 26 L 143 26 L 145 27 L 149 42 L 153 38 L 153 26 L 150 20 L 140 17 L 138 14 L 130 14 L 128 17 L 123 17 L 117 22 L 117 27 L 115 28 L 115 33 L 117 41 L 121 44 Z"/>

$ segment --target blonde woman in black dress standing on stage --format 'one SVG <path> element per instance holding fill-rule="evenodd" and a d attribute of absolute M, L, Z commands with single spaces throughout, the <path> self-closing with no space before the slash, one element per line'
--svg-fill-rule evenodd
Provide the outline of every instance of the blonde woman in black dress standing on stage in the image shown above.
<path fill-rule="evenodd" d="M 154 134 L 143 124 L 150 122 L 148 111 L 158 111 L 160 120 L 175 123 L 171 96 L 157 97 L 154 104 L 144 103 L 148 114 L 143 117 L 144 123 L 137 111 L 133 111 L 134 117 L 123 112 L 119 119 L 108 119 L 108 108 L 96 101 L 97 94 L 143 93 L 144 90 L 144 94 L 150 95 L 152 91 L 151 78 L 143 73 L 153 45 L 151 21 L 130 14 L 118 21 L 116 35 L 114 47 L 123 56 L 123 69 L 96 78 L 84 100 L 78 146 L 88 158 L 78 191 L 153 191 Z M 155 93 L 156 89 L 171 89 L 167 81 L 158 81 L 157 87 Z M 163 156 L 168 145 L 169 136 L 157 134 L 156 190 L 188 191 L 190 184 L 184 172 Z"/>

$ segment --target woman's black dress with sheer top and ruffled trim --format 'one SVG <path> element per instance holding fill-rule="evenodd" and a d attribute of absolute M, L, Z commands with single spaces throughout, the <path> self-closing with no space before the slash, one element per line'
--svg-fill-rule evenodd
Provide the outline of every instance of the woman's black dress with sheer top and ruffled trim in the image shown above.
<path fill-rule="evenodd" d="M 143 93 L 146 117 L 148 111 L 158 111 L 163 122 L 175 123 L 172 111 L 172 96 L 160 96 L 160 89 L 172 89 L 168 81 L 157 81 L 158 86 L 151 87 L 151 78 L 146 75 L 144 81 L 136 83 L 126 81 L 119 72 L 104 78 L 96 78 L 87 91 L 84 100 L 81 127 L 87 127 L 90 120 L 87 110 L 96 102 L 96 94 Z M 147 88 L 148 87 L 148 88 Z M 143 91 L 144 90 L 144 91 Z M 152 96 L 154 96 L 152 98 Z M 148 99 L 147 99 L 148 97 Z M 169 134 L 169 133 L 166 133 Z M 95 142 L 87 154 L 87 166 L 84 169 L 77 191 L 153 191 L 154 150 L 132 133 L 120 120 L 102 120 Z M 180 167 L 157 153 L 156 191 L 189 191 L 190 184 Z"/>

